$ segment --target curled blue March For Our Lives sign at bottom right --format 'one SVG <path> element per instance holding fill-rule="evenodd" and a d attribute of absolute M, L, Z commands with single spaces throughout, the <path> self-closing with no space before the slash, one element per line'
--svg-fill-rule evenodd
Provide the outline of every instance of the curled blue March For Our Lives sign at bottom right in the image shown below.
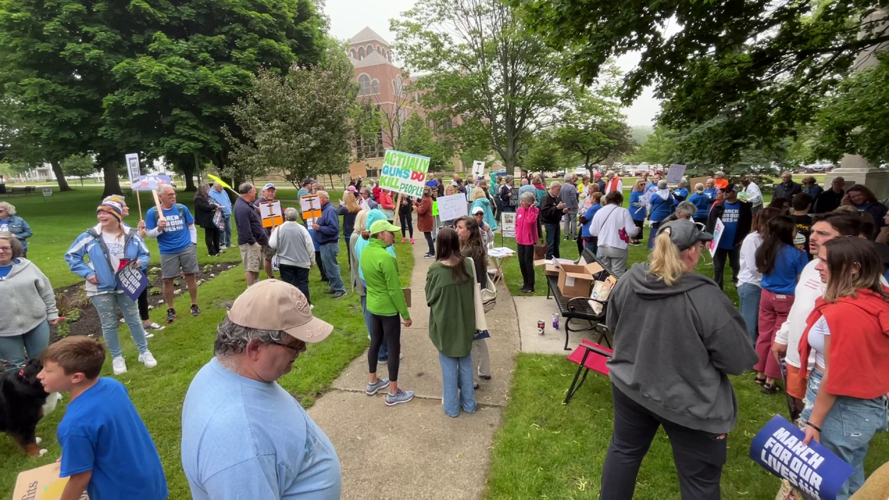
<path fill-rule="evenodd" d="M 805 496 L 832 500 L 852 475 L 846 464 L 815 440 L 803 444 L 805 432 L 781 415 L 774 415 L 750 443 L 750 458 Z"/>

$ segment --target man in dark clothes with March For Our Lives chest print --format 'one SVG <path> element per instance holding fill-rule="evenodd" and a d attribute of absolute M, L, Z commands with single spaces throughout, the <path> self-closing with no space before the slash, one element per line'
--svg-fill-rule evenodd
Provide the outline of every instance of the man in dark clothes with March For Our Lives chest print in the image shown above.
<path fill-rule="evenodd" d="M 725 199 L 717 202 L 710 210 L 707 219 L 707 232 L 714 234 L 717 219 L 721 219 L 725 228 L 719 237 L 717 251 L 713 254 L 713 280 L 720 289 L 723 287 L 725 273 L 725 257 L 732 266 L 732 282 L 738 282 L 738 271 L 741 270 L 741 243 L 750 232 L 753 214 L 750 204 L 738 199 L 738 190 L 730 183 L 722 189 Z M 716 236 L 714 234 L 714 236 Z"/>

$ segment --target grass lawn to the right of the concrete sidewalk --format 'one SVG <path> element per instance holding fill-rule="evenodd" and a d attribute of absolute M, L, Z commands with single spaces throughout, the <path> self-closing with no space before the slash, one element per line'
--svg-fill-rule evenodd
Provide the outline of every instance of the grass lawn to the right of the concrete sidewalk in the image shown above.
<path fill-rule="evenodd" d="M 625 194 L 629 196 L 629 193 Z M 649 230 L 646 226 L 645 243 Z M 500 242 L 500 235 L 497 235 L 497 246 Z M 516 247 L 514 238 L 504 238 L 503 242 L 506 246 Z M 630 262 L 647 259 L 645 245 L 629 248 Z M 563 258 L 576 259 L 578 256 L 574 242 L 561 241 L 560 251 Z M 522 282 L 518 262 L 515 258 L 507 262 L 504 273 L 509 291 L 518 294 Z M 712 260 L 707 253 L 698 270 L 713 276 L 709 262 Z M 535 294 L 545 295 L 547 282 L 542 266 L 535 269 Z M 725 283 L 731 283 L 728 268 Z M 726 286 L 725 293 L 737 306 L 737 290 Z M 576 370 L 577 366 L 566 361 L 564 356 L 519 353 L 509 406 L 505 410 L 503 425 L 494 437 L 485 498 L 598 498 L 605 452 L 613 429 L 611 383 L 605 376 L 590 374 L 571 403 L 565 406 L 562 401 Z M 773 500 L 780 482 L 750 460 L 749 446 L 753 436 L 773 415 L 786 416 L 784 396 L 760 393 L 752 375 L 733 377 L 733 385 L 741 416 L 729 435 L 722 496 L 725 499 Z M 867 472 L 887 461 L 889 433 L 880 433 L 870 443 L 865 463 Z M 661 430 L 645 456 L 634 498 L 666 500 L 679 496 L 672 450 Z"/>

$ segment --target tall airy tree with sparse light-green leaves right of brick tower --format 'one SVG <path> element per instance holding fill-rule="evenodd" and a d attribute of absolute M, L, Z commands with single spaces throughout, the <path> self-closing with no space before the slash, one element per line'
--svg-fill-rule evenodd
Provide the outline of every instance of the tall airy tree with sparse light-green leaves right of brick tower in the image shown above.
<path fill-rule="evenodd" d="M 552 121 L 565 88 L 561 57 L 500 0 L 420 0 L 391 20 L 396 50 L 427 89 L 420 103 L 447 133 L 486 145 L 511 171 L 530 132 Z"/>

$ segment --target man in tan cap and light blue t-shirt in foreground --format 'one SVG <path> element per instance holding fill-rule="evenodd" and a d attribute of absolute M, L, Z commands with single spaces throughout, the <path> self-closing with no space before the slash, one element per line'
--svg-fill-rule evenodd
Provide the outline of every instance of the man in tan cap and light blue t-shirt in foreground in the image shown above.
<path fill-rule="evenodd" d="M 182 469 L 195 500 L 340 498 L 331 441 L 276 382 L 332 329 L 284 281 L 260 281 L 236 299 L 182 407 Z"/>

